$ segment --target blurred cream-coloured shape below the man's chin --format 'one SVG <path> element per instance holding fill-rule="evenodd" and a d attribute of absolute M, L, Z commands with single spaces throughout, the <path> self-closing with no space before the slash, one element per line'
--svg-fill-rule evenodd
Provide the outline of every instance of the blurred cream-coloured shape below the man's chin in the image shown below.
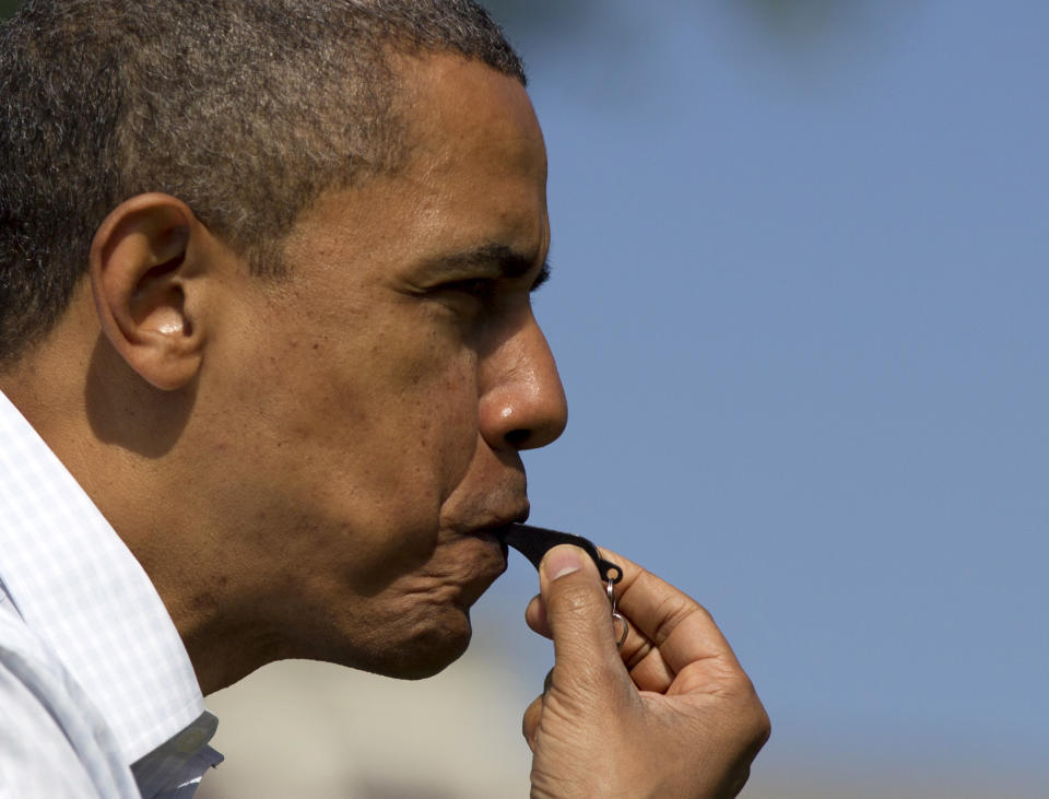
<path fill-rule="evenodd" d="M 522 695 L 517 672 L 485 653 L 420 682 L 307 660 L 273 663 L 208 697 L 220 718 L 213 745 L 226 762 L 197 796 L 524 797 L 531 754 L 520 733 Z"/>

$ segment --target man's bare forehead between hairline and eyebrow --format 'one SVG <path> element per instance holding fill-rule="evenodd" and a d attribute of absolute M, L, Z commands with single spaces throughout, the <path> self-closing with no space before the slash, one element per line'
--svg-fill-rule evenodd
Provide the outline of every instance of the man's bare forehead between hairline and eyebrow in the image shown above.
<path fill-rule="evenodd" d="M 403 57 L 403 157 L 392 174 L 322 197 L 287 239 L 329 262 L 391 273 L 480 246 L 541 259 L 546 151 L 524 87 L 453 55 Z"/>

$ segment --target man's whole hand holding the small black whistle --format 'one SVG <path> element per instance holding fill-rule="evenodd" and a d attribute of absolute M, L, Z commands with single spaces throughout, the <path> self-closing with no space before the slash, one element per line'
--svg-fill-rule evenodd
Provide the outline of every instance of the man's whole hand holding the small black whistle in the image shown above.
<path fill-rule="evenodd" d="M 616 651 L 605 588 L 582 550 L 555 547 L 526 619 L 553 638 L 549 689 L 526 710 L 533 799 L 733 797 L 768 716 L 710 614 L 618 555 Z"/>

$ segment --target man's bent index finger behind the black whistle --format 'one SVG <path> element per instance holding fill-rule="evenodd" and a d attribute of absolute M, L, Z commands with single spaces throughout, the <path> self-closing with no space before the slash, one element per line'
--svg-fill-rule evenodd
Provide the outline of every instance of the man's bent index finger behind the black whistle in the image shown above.
<path fill-rule="evenodd" d="M 659 649 L 674 672 L 699 660 L 739 661 L 706 608 L 627 559 L 599 548 L 601 556 L 623 569 L 616 584 L 616 607 Z"/>

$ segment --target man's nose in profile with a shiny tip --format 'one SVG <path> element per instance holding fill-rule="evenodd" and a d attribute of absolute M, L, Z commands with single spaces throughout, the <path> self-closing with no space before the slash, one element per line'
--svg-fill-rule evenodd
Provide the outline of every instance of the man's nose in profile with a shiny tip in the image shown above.
<path fill-rule="evenodd" d="M 568 402 L 535 318 L 487 353 L 480 366 L 481 434 L 493 449 L 545 447 L 565 431 Z"/>

